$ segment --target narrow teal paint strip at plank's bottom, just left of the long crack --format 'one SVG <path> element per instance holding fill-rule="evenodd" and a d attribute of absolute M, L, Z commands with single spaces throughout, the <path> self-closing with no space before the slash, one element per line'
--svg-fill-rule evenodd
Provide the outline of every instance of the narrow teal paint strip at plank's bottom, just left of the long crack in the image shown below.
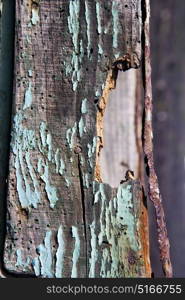
<path fill-rule="evenodd" d="M 77 262 L 80 257 L 80 238 L 78 235 L 78 229 L 75 226 L 72 226 L 72 237 L 75 239 L 75 246 L 73 251 L 73 258 L 72 258 L 72 271 L 71 271 L 71 278 L 77 278 Z"/>

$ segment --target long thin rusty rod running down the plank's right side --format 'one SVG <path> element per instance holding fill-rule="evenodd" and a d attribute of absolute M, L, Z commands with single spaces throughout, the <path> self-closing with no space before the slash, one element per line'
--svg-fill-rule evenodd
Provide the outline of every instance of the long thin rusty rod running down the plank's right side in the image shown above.
<path fill-rule="evenodd" d="M 153 128 L 152 128 L 152 84 L 151 84 L 151 63 L 150 63 L 150 1 L 142 1 L 143 19 L 143 49 L 144 49 L 144 132 L 143 147 L 149 176 L 149 198 L 153 202 L 156 213 L 158 244 L 163 272 L 166 277 L 172 277 L 172 265 L 170 260 L 170 244 L 167 234 L 165 214 L 162 204 L 162 197 L 159 190 L 158 178 L 154 169 L 153 158 Z"/>

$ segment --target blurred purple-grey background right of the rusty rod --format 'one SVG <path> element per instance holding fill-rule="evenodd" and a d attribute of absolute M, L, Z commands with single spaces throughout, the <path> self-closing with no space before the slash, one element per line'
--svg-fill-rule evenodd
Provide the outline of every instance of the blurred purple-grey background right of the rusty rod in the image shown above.
<path fill-rule="evenodd" d="M 185 277 L 185 1 L 150 3 L 155 166 L 174 276 Z M 153 271 L 162 276 L 153 238 L 151 249 Z"/>

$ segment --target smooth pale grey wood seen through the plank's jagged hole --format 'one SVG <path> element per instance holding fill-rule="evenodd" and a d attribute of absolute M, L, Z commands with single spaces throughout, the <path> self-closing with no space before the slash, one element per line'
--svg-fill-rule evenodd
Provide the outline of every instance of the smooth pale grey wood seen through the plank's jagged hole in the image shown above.
<path fill-rule="evenodd" d="M 101 175 L 104 182 L 118 186 L 128 169 L 136 178 L 143 173 L 142 98 L 137 96 L 140 69 L 119 72 L 104 116 L 104 148 L 101 151 Z M 111 161 L 111 164 L 110 164 Z"/>

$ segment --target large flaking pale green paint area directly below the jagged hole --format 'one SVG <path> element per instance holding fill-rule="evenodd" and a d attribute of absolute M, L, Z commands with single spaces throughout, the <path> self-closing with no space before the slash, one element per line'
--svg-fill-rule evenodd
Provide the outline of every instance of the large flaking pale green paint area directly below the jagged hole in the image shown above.
<path fill-rule="evenodd" d="M 103 183 L 93 182 L 94 204 L 98 203 L 100 206 L 99 226 L 95 227 L 95 230 L 98 230 L 96 248 L 101 247 L 104 241 L 107 243 L 100 252 L 102 255 L 98 254 L 98 260 L 101 258 L 100 276 L 116 278 L 130 277 L 132 274 L 134 277 L 134 272 L 138 274 L 138 264 L 132 267 L 132 271 L 130 270 L 129 251 L 137 257 L 140 243 L 137 216 L 133 209 L 132 186 L 126 183 L 119 185 L 112 200 L 107 199 L 106 186 Z M 91 229 L 93 230 L 93 227 Z M 123 263 L 125 261 L 125 265 L 120 264 L 120 259 Z"/>

